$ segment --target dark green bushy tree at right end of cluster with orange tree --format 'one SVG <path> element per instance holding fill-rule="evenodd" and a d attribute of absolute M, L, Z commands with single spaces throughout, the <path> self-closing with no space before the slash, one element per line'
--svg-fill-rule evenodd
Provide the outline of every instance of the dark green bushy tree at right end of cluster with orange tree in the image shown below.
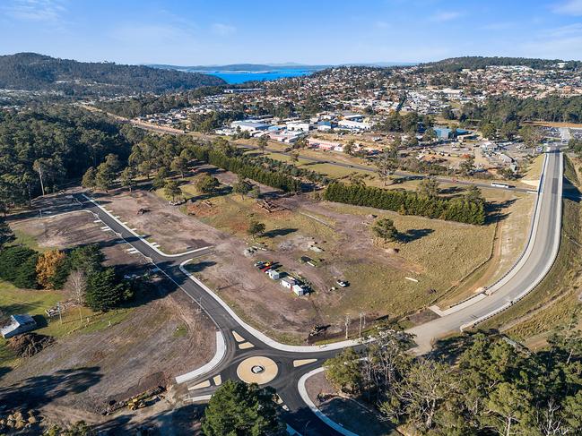
<path fill-rule="evenodd" d="M 85 303 L 93 311 L 108 312 L 129 298 L 128 291 L 117 279 L 114 268 L 94 271 L 87 278 Z"/>

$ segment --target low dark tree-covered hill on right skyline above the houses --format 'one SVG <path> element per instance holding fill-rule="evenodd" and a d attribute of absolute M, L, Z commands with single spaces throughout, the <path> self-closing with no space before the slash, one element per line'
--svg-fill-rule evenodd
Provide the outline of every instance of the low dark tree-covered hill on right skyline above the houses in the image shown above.
<path fill-rule="evenodd" d="M 582 65 L 579 61 L 562 61 L 560 59 L 536 59 L 529 57 L 486 57 L 486 56 L 464 56 L 451 57 L 438 62 L 421 64 L 421 68 L 426 71 L 454 72 L 463 69 L 477 70 L 487 66 L 528 66 L 536 70 L 544 70 L 555 67 L 556 64 L 565 63 L 564 68 L 575 70 Z"/>

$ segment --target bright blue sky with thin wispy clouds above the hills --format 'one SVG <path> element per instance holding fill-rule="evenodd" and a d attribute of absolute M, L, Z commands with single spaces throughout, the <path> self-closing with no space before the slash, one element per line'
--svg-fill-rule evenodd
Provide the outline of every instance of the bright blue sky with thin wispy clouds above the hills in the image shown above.
<path fill-rule="evenodd" d="M 582 0 L 0 0 L 0 54 L 126 64 L 582 59 Z"/>

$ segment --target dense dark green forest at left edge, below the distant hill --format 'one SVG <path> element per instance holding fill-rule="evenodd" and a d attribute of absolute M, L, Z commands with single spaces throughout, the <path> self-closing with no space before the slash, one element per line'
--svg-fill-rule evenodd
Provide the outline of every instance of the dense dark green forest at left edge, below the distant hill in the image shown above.
<path fill-rule="evenodd" d="M 46 192 L 80 178 L 109 153 L 122 161 L 140 132 L 75 107 L 0 111 L 0 209 L 39 195 L 42 174 Z"/>

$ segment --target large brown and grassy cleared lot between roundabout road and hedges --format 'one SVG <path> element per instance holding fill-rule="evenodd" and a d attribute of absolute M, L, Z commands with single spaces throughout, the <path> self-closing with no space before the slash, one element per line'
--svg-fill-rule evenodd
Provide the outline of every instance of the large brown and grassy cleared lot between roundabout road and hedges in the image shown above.
<path fill-rule="evenodd" d="M 229 173 L 218 176 L 226 184 L 236 180 Z M 239 194 L 222 193 L 201 200 L 193 184 L 182 189 L 187 197 L 197 199 L 194 205 L 171 207 L 146 191 L 117 192 L 101 200 L 130 227 L 161 244 L 163 250 L 213 246 L 212 254 L 196 259 L 189 268 L 246 321 L 292 343 L 304 342 L 316 324 L 328 326 L 320 339 L 341 334 L 346 314 L 356 324 L 360 312 L 367 320 L 386 316 L 400 319 L 442 297 L 460 298 L 473 292 L 474 286 L 456 292 L 458 286 L 468 278 L 492 277 L 508 261 L 499 262 L 499 268 L 491 271 L 480 270 L 482 266 L 491 259 L 510 258 L 513 252 L 511 247 L 494 250 L 496 235 L 501 235 L 499 228 L 512 223 L 507 218 L 499 221 L 499 228 L 495 223 L 475 227 L 315 201 L 309 195 L 278 199 L 275 202 L 280 208 L 268 212 L 256 200 Z M 497 212 L 508 217 L 512 217 L 509 212 L 515 204 L 523 204 L 525 209 L 529 204 L 527 194 L 492 195 L 499 206 Z M 525 200 L 521 201 L 522 197 Z M 139 209 L 149 212 L 138 215 Z M 404 243 L 378 244 L 373 240 L 369 227 L 381 217 L 395 220 Z M 264 235 L 248 235 L 252 219 L 265 223 Z M 511 241 L 515 239 L 517 247 L 519 238 L 514 236 Z M 505 239 L 505 245 L 510 245 L 510 238 Z M 252 246 L 259 249 L 245 255 Z M 306 257 L 316 266 L 306 263 Z M 257 260 L 278 262 L 282 271 L 301 278 L 315 292 L 305 297 L 293 295 L 254 268 Z M 336 279 L 348 280 L 351 285 L 341 288 Z M 336 289 L 330 290 L 332 287 Z"/>

